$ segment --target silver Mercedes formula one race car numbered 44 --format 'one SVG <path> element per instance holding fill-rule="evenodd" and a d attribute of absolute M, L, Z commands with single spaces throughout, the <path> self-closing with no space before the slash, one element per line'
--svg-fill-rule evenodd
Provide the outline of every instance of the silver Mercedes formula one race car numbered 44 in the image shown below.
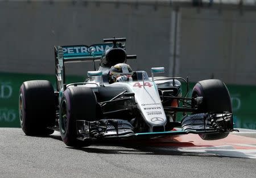
<path fill-rule="evenodd" d="M 91 46 L 56 46 L 56 91 L 46 80 L 26 81 L 20 86 L 19 117 L 26 135 L 60 131 L 67 146 L 89 146 L 94 139 L 155 138 L 199 134 L 214 140 L 233 130 L 230 96 L 220 80 L 199 81 L 192 97 L 188 78 L 155 77 L 163 67 L 131 71 L 125 38 L 104 39 Z M 94 71 L 85 82 L 67 84 L 65 64 L 92 61 Z M 95 61 L 100 61 L 96 71 Z M 119 76 L 118 76 L 119 73 Z M 182 96 L 181 82 L 186 86 Z M 177 113 L 183 113 L 181 122 Z M 174 130 L 174 127 L 180 127 Z"/>

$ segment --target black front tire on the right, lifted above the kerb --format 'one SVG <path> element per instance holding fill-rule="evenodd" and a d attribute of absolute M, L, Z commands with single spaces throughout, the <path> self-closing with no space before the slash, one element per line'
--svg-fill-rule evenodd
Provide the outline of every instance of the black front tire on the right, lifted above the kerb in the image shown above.
<path fill-rule="evenodd" d="M 222 113 L 224 111 L 232 113 L 229 92 L 221 80 L 211 79 L 197 82 L 192 91 L 192 98 L 195 97 L 203 97 L 203 102 L 197 106 L 197 113 Z M 192 102 L 192 107 L 195 105 Z M 226 122 L 226 127 L 229 130 L 233 129 L 233 118 Z M 228 135 L 229 133 L 199 134 L 204 140 L 222 139 Z"/>

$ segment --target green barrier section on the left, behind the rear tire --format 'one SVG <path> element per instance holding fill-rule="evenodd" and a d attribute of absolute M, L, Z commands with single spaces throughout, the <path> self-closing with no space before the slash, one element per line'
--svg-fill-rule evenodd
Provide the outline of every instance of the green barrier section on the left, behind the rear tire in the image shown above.
<path fill-rule="evenodd" d="M 20 127 L 19 88 L 27 80 L 49 80 L 56 87 L 54 75 L 0 73 L 0 127 Z M 81 82 L 85 77 L 68 76 L 67 82 Z"/>

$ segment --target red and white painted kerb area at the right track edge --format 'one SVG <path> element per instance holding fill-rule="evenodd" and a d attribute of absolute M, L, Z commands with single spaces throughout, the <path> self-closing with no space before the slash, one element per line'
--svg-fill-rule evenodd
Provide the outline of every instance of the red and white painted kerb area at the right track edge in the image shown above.
<path fill-rule="evenodd" d="M 195 134 L 172 137 L 174 142 L 171 143 L 171 138 L 159 138 L 158 146 L 177 147 L 181 152 L 256 159 L 256 130 L 237 130 L 240 132 L 233 132 L 220 140 L 203 140 Z"/>

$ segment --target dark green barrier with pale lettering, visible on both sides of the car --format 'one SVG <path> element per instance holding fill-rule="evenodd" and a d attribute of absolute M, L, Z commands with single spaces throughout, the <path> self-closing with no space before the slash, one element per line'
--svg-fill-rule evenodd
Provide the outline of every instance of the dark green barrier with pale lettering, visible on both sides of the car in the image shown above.
<path fill-rule="evenodd" d="M 23 81 L 49 80 L 55 87 L 55 76 L 43 74 L 0 73 L 0 127 L 20 127 L 19 88 Z M 81 82 L 85 77 L 68 76 L 67 82 Z M 190 83 L 192 89 L 195 83 Z M 256 129 L 256 86 L 227 85 L 237 128 Z M 184 92 L 184 89 L 183 89 Z"/>

